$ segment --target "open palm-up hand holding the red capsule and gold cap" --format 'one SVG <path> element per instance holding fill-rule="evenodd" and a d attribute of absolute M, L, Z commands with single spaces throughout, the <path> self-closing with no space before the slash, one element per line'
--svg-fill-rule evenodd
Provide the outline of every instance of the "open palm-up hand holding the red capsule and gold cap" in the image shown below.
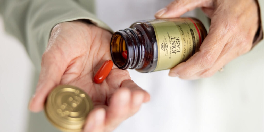
<path fill-rule="evenodd" d="M 56 25 L 42 56 L 41 73 L 29 109 L 43 109 L 49 92 L 58 84 L 77 86 L 92 98 L 95 109 L 89 113 L 85 132 L 109 132 L 132 116 L 149 94 L 137 86 L 127 70 L 115 65 L 100 84 L 93 77 L 111 59 L 111 33 L 77 20 Z"/>

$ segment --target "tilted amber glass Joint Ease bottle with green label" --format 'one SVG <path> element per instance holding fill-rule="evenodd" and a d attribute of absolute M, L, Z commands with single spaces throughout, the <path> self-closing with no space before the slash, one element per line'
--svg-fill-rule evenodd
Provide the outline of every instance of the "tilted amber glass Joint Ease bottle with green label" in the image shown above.
<path fill-rule="evenodd" d="M 186 61 L 199 50 L 206 35 L 196 18 L 142 20 L 115 32 L 110 50 L 118 68 L 147 73 Z"/>

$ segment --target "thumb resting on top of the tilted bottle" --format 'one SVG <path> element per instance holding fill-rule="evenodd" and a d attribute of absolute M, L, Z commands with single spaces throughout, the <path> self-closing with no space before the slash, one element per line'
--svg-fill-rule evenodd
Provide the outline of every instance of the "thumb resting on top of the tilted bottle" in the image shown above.
<path fill-rule="evenodd" d="M 156 14 L 156 18 L 175 18 L 197 7 L 209 7 L 210 0 L 174 0 Z"/>

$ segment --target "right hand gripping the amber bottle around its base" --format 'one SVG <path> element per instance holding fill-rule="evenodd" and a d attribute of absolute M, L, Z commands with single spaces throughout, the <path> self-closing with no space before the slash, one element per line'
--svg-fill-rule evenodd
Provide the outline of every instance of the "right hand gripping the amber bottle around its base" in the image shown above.
<path fill-rule="evenodd" d="M 210 77 L 252 48 L 260 25 L 256 0 L 175 0 L 155 17 L 180 17 L 197 7 L 211 18 L 208 35 L 199 51 L 172 68 L 169 76 L 183 79 Z"/>

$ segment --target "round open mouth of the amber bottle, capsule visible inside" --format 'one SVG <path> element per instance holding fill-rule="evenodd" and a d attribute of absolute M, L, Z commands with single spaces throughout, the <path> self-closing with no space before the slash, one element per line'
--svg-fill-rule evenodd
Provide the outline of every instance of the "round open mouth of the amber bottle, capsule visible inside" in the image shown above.
<path fill-rule="evenodd" d="M 127 69 L 125 66 L 127 62 L 128 51 L 126 42 L 120 34 L 114 34 L 111 39 L 111 55 L 115 65 L 120 69 Z"/>

